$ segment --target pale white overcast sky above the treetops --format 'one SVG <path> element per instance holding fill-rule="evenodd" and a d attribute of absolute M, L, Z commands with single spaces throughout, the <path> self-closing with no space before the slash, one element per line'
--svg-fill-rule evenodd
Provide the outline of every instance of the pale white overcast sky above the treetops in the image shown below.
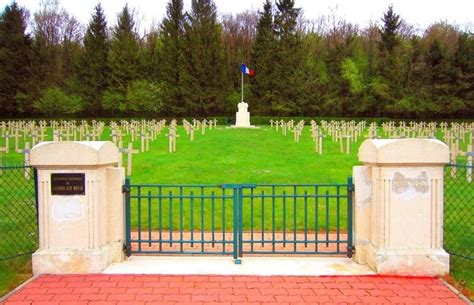
<path fill-rule="evenodd" d="M 12 0 L 0 0 L 1 8 Z M 87 24 L 94 6 L 100 0 L 59 0 L 60 6 Z M 214 0 L 220 14 L 238 13 L 245 10 L 261 10 L 263 0 Z M 107 14 L 108 24 L 114 24 L 117 13 L 128 2 L 130 7 L 138 10 L 142 21 L 142 30 L 153 21 L 159 22 L 166 11 L 168 0 L 102 0 L 100 1 Z M 40 0 L 17 0 L 31 13 L 39 7 Z M 184 0 L 185 9 L 190 7 L 191 0 Z M 474 0 L 296 0 L 307 18 L 316 19 L 335 11 L 338 17 L 349 22 L 365 26 L 369 21 L 379 21 L 389 4 L 409 24 L 425 29 L 436 21 L 448 21 L 464 27 L 474 23 Z"/>

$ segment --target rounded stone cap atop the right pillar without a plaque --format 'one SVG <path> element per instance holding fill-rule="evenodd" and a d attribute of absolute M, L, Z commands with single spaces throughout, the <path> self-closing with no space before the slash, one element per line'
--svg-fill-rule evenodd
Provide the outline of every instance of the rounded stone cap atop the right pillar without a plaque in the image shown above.
<path fill-rule="evenodd" d="M 449 148 L 434 139 L 370 139 L 359 148 L 364 164 L 447 164 Z"/>

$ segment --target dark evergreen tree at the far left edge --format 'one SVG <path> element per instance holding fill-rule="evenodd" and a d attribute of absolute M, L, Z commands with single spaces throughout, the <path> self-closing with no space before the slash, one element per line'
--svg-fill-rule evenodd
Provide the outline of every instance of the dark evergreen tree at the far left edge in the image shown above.
<path fill-rule="evenodd" d="M 0 15 L 0 108 L 2 115 L 29 110 L 22 104 L 31 80 L 31 38 L 25 33 L 26 12 L 16 2 Z"/>

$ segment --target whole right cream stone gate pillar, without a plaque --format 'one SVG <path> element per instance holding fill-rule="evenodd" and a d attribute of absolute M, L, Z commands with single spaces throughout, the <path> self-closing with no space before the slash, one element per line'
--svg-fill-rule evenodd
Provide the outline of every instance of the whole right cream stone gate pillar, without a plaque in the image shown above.
<path fill-rule="evenodd" d="M 354 260 L 379 274 L 449 272 L 443 178 L 449 148 L 431 139 L 366 140 L 355 184 Z"/>

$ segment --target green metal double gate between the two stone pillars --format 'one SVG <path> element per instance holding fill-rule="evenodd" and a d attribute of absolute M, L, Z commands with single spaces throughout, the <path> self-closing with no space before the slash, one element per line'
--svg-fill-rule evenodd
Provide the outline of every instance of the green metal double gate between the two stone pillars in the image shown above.
<path fill-rule="evenodd" d="M 351 256 L 352 179 L 342 184 L 131 184 L 126 253 Z"/>

